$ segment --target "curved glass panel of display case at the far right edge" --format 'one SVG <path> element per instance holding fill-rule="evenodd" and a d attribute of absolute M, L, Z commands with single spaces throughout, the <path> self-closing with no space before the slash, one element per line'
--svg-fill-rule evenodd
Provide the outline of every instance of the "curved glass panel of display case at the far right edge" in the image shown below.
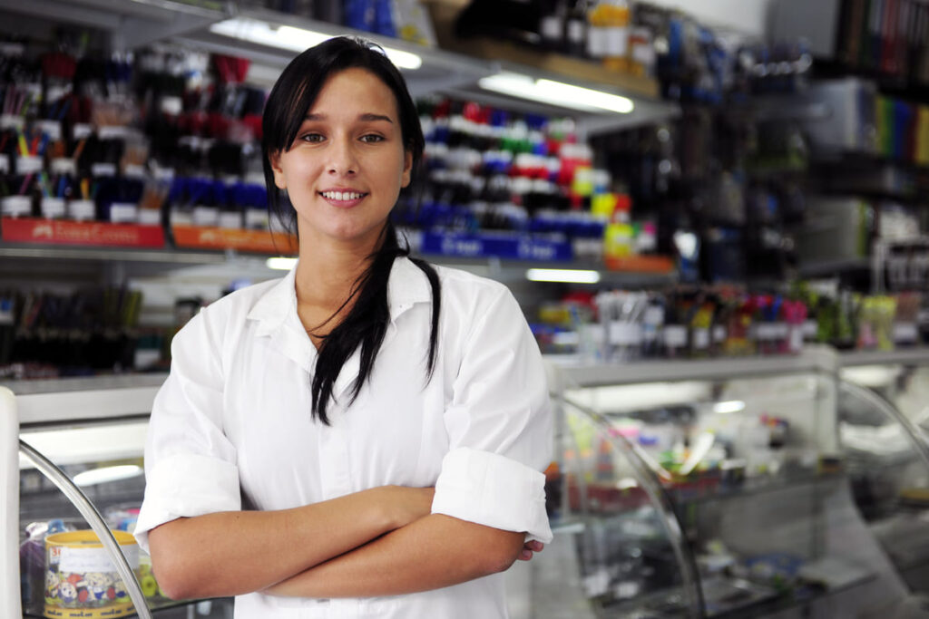
<path fill-rule="evenodd" d="M 920 428 L 926 368 L 843 372 L 840 438 L 851 494 L 906 596 L 929 592 L 929 443 Z"/>

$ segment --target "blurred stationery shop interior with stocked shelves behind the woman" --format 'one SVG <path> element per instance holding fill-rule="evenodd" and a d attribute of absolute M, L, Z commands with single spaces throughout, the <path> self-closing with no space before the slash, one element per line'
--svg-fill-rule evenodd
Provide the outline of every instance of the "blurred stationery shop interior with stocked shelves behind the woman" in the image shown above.
<path fill-rule="evenodd" d="M 418 57 L 395 220 L 510 287 L 551 367 L 556 540 L 515 617 L 929 616 L 925 0 L 0 0 L 24 440 L 72 477 L 140 463 L 146 411 L 111 403 L 281 277 L 256 132 L 305 31 Z M 72 510 L 24 462 L 17 544 Z M 116 526 L 141 483 L 85 492 Z"/>

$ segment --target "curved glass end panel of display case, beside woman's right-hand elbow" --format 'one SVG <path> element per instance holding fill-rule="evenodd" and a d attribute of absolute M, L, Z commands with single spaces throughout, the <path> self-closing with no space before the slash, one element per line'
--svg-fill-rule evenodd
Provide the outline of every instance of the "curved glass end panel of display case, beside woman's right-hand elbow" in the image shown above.
<path fill-rule="evenodd" d="M 546 557 L 546 548 L 537 568 L 557 585 L 547 595 L 561 603 L 553 610 L 546 602 L 535 616 L 700 616 L 693 563 L 645 463 L 607 419 L 558 405 L 559 465 L 546 488 L 557 549 Z"/>

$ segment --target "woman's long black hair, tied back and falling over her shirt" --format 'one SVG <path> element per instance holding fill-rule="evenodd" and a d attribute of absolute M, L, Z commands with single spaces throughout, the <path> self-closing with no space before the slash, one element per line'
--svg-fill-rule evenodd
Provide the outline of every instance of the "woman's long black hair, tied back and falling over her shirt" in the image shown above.
<path fill-rule="evenodd" d="M 335 37 L 307 49 L 294 58 L 281 73 L 268 95 L 262 117 L 261 149 L 265 167 L 265 185 L 268 186 L 268 207 L 272 216 L 280 218 L 296 232 L 296 213 L 290 201 L 281 195 L 274 184 L 271 157 L 288 150 L 294 143 L 300 125 L 319 96 L 323 84 L 335 73 L 359 68 L 371 71 L 394 93 L 399 112 L 403 148 L 412 154 L 413 169 L 423 158 L 425 139 L 419 123 L 419 114 L 407 90 L 406 82 L 398 69 L 387 59 L 377 45 L 361 39 Z M 313 376 L 312 411 L 314 418 L 329 424 L 326 408 L 333 397 L 335 380 L 348 357 L 360 346 L 358 379 L 352 386 L 351 402 L 355 401 L 365 380 L 369 380 L 374 359 L 384 341 L 390 308 L 387 305 L 387 279 L 394 260 L 408 256 L 408 247 L 401 247 L 397 230 L 388 220 L 382 232 L 382 242 L 371 256 L 371 264 L 352 286 L 347 303 L 354 300 L 348 315 L 323 337 L 320 355 Z M 426 380 L 432 378 L 438 355 L 438 315 L 440 286 L 436 270 L 423 260 L 411 258 L 425 274 L 432 289 L 432 324 L 429 331 L 429 350 L 426 356 Z M 333 316 L 337 316 L 339 308 Z"/>

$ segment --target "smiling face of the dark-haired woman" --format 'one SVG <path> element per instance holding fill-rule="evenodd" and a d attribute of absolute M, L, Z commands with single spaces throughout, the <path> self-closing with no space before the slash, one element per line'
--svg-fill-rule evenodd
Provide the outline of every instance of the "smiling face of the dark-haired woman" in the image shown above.
<path fill-rule="evenodd" d="M 397 99 L 372 72 L 347 69 L 323 84 L 294 143 L 271 158 L 286 189 L 301 246 L 336 241 L 373 250 L 412 154 L 403 148 Z"/>

